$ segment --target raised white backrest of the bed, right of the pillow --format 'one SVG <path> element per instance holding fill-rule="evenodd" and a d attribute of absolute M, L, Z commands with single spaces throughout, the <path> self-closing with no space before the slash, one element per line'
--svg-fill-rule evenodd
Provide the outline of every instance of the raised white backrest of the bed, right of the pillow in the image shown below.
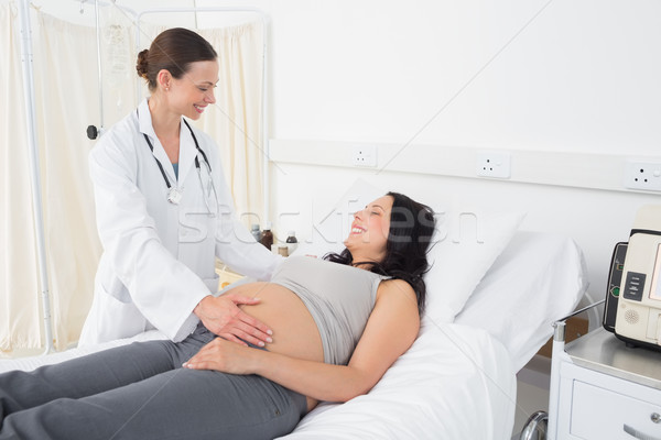
<path fill-rule="evenodd" d="M 514 369 L 530 361 L 587 289 L 587 268 L 572 239 L 518 231 L 455 322 L 480 327 L 507 346 Z"/>

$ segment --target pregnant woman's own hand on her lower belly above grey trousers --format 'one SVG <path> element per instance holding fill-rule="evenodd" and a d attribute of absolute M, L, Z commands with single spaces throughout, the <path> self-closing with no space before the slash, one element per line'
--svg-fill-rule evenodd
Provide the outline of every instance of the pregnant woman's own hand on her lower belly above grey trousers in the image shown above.
<path fill-rule="evenodd" d="M 184 369 L 216 370 L 231 374 L 252 374 L 254 369 L 251 365 L 254 354 L 260 351 L 216 338 L 203 346 L 183 366 Z"/>

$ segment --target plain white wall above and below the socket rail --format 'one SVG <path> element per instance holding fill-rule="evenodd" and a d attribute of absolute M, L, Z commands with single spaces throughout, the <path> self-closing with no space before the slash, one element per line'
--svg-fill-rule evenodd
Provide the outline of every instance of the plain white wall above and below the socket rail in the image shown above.
<path fill-rule="evenodd" d="M 661 162 L 658 1 L 279 0 L 271 8 L 273 139 L 590 153 L 596 162 L 599 154 L 622 154 Z M 551 172 L 559 185 L 564 169 Z M 525 210 L 523 228 L 564 233 L 581 244 L 598 298 L 611 249 L 627 240 L 636 210 L 661 201 L 659 195 L 626 190 L 412 175 L 388 167 L 281 162 L 271 172 L 275 223 L 281 232 L 297 229 L 302 235 L 357 176 L 430 202 L 443 194 Z M 289 212 L 301 215 L 282 217 Z"/>

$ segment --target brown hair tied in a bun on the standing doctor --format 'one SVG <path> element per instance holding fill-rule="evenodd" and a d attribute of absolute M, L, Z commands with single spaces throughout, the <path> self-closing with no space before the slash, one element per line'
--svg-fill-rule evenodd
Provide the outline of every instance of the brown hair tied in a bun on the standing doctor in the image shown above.
<path fill-rule="evenodd" d="M 218 58 L 214 47 L 199 34 L 183 28 L 161 32 L 149 50 L 138 54 L 136 70 L 147 80 L 151 91 L 156 89 L 159 72 L 165 69 L 180 79 L 191 63 L 212 62 Z"/>

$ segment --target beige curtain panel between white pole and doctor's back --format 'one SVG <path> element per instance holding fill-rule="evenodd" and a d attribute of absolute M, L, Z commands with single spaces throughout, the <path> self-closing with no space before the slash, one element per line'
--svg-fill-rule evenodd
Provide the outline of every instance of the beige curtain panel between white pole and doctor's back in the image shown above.
<path fill-rule="evenodd" d="M 35 82 L 44 223 L 56 348 L 76 341 L 91 304 L 101 248 L 87 168 L 99 121 L 96 32 L 37 13 Z"/>

